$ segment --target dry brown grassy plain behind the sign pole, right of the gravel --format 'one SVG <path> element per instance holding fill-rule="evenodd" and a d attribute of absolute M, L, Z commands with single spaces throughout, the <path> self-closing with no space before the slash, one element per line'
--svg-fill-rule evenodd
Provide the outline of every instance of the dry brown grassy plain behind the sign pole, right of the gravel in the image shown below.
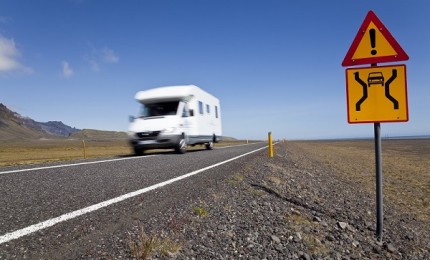
<path fill-rule="evenodd" d="M 373 140 L 303 141 L 306 154 L 334 168 L 341 178 L 354 180 L 370 192 L 375 190 Z M 382 141 L 384 199 L 430 223 L 430 139 Z"/>

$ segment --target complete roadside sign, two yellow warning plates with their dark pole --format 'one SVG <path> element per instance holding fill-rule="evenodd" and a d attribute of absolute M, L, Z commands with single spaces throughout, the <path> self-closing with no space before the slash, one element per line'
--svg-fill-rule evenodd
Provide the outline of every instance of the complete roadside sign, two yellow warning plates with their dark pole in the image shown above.
<path fill-rule="evenodd" d="M 407 122 L 406 65 L 378 66 L 378 63 L 406 61 L 400 47 L 373 11 L 369 11 L 342 62 L 346 74 L 348 123 L 373 123 L 376 168 L 376 237 L 382 241 L 382 149 L 381 123 Z"/>

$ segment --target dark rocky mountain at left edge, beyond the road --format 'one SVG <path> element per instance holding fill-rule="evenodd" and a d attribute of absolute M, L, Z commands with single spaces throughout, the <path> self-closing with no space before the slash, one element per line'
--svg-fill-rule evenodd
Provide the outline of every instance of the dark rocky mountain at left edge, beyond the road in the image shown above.
<path fill-rule="evenodd" d="M 37 122 L 0 103 L 0 140 L 68 137 L 79 129 L 60 121 Z"/>

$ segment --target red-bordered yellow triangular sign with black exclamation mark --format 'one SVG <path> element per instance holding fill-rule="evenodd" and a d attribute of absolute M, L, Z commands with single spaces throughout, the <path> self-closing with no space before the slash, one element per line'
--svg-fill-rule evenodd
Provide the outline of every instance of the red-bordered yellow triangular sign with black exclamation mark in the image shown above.
<path fill-rule="evenodd" d="M 409 56 L 372 11 L 363 24 L 342 62 L 342 66 L 408 60 Z"/>

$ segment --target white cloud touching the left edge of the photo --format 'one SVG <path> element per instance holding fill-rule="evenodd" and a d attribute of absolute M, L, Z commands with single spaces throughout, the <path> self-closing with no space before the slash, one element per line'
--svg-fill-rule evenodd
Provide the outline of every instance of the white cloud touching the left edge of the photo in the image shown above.
<path fill-rule="evenodd" d="M 18 61 L 21 53 L 15 46 L 13 39 L 8 39 L 0 35 L 0 73 L 24 72 L 32 73 L 32 69 L 22 65 Z"/>

